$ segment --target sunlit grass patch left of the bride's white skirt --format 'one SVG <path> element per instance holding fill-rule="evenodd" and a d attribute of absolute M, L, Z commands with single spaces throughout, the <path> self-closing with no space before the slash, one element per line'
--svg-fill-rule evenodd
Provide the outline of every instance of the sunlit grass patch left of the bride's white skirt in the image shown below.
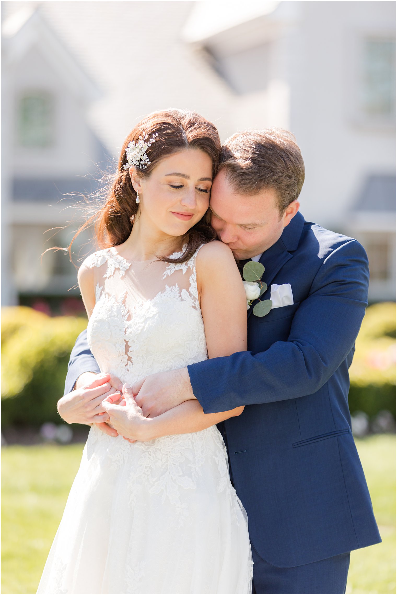
<path fill-rule="evenodd" d="M 1 592 L 36 593 L 82 444 L 1 449 Z"/>

